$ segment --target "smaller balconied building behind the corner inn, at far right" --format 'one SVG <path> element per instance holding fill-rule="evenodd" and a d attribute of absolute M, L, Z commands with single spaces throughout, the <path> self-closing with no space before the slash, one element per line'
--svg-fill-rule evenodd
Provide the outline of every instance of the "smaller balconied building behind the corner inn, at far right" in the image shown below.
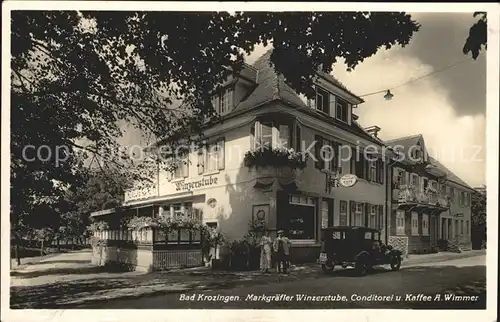
<path fill-rule="evenodd" d="M 399 156 L 391 166 L 390 241 L 409 253 L 430 252 L 439 240 L 470 249 L 474 189 L 428 155 L 421 134 L 386 143 Z"/>

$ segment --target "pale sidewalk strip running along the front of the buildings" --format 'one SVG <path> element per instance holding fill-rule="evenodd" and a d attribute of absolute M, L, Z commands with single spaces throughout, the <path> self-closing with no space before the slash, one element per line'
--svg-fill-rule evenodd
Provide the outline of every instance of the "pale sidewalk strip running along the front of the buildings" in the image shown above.
<path fill-rule="evenodd" d="M 404 266 L 481 256 L 484 253 L 414 255 L 404 261 Z M 11 308 L 78 308 L 95 301 L 292 283 L 319 276 L 323 276 L 321 267 L 315 263 L 292 265 L 287 275 L 275 272 L 262 274 L 259 271 L 212 271 L 206 267 L 154 273 L 113 273 L 90 265 L 90 253 L 76 251 L 12 271 Z"/>

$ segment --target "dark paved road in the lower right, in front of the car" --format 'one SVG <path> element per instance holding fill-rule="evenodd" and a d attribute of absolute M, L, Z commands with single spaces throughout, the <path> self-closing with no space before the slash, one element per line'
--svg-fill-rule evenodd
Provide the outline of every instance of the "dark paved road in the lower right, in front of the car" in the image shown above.
<path fill-rule="evenodd" d="M 134 299 L 116 299 L 85 308 L 106 309 L 167 309 L 167 308 L 485 308 L 486 257 L 476 256 L 446 262 L 422 264 L 398 272 L 379 269 L 374 274 L 356 277 L 352 270 L 339 270 L 331 275 L 318 275 L 290 282 L 265 285 L 243 285 L 231 289 L 171 293 Z M 471 301 L 446 301 L 444 294 L 479 296 Z M 280 295 L 283 294 L 283 295 Z M 299 300 L 299 294 L 328 296 L 309 301 Z M 422 301 L 422 296 L 440 301 Z M 248 296 L 251 296 L 248 298 Z M 254 295 L 255 297 L 252 297 Z M 269 297 L 281 296 L 279 301 Z M 356 298 L 383 296 L 386 298 Z M 289 296 L 289 298 L 285 298 Z M 342 299 L 342 296 L 345 296 Z M 387 298 L 387 296 L 392 296 Z M 400 296 L 399 299 L 397 296 Z M 415 297 L 412 297 L 415 296 Z M 180 300 L 184 297 L 185 300 Z M 420 297 L 420 298 L 419 298 Z M 83 308 L 83 307 L 82 307 Z"/>

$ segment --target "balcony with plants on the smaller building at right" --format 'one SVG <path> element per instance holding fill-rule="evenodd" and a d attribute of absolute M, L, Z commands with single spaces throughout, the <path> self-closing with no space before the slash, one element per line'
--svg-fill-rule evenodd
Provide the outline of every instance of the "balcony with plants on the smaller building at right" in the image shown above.
<path fill-rule="evenodd" d="M 393 200 L 398 203 L 415 203 L 439 206 L 448 208 L 450 200 L 448 196 L 443 196 L 436 190 L 428 187 L 425 191 L 420 191 L 413 185 L 399 185 L 393 190 Z"/>

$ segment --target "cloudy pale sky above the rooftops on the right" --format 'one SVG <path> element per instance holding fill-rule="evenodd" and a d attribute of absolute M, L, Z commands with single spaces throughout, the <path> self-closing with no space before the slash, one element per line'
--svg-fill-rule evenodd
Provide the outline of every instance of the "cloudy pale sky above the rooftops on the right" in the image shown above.
<path fill-rule="evenodd" d="M 421 24 L 405 48 L 381 49 L 352 72 L 342 63 L 332 74 L 359 96 L 386 90 L 467 59 L 462 52 L 472 13 L 412 13 Z M 253 63 L 268 48 L 257 46 L 247 57 Z M 470 57 L 470 56 L 469 56 Z M 469 185 L 485 184 L 486 54 L 444 72 L 364 97 L 354 113 L 363 127 L 377 125 L 383 140 L 422 134 L 431 156 Z M 129 131 L 125 142 L 137 142 Z M 144 140 L 141 140 L 144 143 Z"/>

